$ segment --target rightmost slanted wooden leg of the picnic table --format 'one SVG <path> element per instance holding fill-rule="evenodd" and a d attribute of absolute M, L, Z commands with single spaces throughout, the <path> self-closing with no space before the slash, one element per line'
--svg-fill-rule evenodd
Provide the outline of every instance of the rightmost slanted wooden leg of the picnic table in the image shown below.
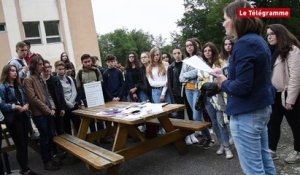
<path fill-rule="evenodd" d="M 167 133 L 175 130 L 175 127 L 171 123 L 168 116 L 159 117 L 158 120 Z M 187 147 L 182 139 L 174 142 L 174 144 L 180 154 L 184 154 L 187 152 Z"/>

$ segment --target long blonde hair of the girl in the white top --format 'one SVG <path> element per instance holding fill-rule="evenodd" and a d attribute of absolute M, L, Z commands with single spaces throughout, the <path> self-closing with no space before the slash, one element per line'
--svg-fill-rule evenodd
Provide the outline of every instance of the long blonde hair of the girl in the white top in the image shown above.
<path fill-rule="evenodd" d="M 155 62 L 153 61 L 155 52 L 159 52 L 159 49 L 157 47 L 154 47 L 150 50 L 150 64 L 147 66 L 147 77 L 151 77 L 152 79 L 153 79 L 152 68 L 155 66 L 158 66 L 159 76 L 164 76 L 167 74 L 167 70 L 164 64 L 162 63 L 161 56 L 159 57 L 157 65 L 155 65 Z"/>

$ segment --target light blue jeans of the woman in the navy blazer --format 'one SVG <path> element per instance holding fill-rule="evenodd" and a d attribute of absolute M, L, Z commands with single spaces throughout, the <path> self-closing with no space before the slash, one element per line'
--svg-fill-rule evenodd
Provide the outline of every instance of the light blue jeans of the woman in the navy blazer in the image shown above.
<path fill-rule="evenodd" d="M 241 167 L 246 175 L 274 175 L 276 169 L 268 147 L 271 107 L 232 115 L 230 129 Z"/>

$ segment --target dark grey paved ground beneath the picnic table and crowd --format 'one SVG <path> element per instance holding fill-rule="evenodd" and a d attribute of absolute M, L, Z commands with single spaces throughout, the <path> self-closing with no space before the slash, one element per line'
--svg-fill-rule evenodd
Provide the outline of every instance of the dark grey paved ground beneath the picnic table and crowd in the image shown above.
<path fill-rule="evenodd" d="M 149 152 L 135 159 L 124 162 L 121 165 L 120 175 L 239 175 L 243 174 L 239 166 L 236 152 L 234 158 L 226 160 L 225 156 L 215 154 L 218 149 L 214 146 L 204 150 L 198 145 L 188 147 L 189 152 L 180 155 L 173 145 Z M 283 123 L 282 137 L 278 149 L 280 159 L 275 161 L 279 175 L 300 175 L 300 163 L 285 164 L 283 159 L 293 150 L 292 137 L 286 122 Z M 42 168 L 40 156 L 29 149 L 30 167 L 44 175 L 104 175 L 105 170 L 98 172 L 89 171 L 80 161 L 68 157 L 64 161 L 61 170 L 49 172 Z M 17 169 L 15 153 L 10 153 L 12 169 Z M 15 174 L 15 173 L 14 173 Z M 17 173 L 16 173 L 17 174 Z"/>

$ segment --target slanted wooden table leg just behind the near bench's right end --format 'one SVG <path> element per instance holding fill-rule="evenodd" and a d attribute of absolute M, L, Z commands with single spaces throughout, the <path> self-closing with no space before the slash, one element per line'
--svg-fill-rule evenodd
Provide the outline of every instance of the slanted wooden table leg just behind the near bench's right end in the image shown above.
<path fill-rule="evenodd" d="M 116 152 L 125 147 L 128 138 L 128 125 L 118 123 L 118 128 L 114 140 L 114 145 L 112 148 L 113 152 Z"/>

